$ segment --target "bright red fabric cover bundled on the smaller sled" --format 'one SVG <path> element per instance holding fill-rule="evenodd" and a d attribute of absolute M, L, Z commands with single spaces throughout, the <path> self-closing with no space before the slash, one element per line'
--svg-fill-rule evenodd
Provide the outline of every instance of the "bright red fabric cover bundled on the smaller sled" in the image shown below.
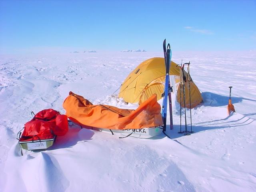
<path fill-rule="evenodd" d="M 68 132 L 68 117 L 53 109 L 38 112 L 24 126 L 20 141 L 52 139 Z"/>

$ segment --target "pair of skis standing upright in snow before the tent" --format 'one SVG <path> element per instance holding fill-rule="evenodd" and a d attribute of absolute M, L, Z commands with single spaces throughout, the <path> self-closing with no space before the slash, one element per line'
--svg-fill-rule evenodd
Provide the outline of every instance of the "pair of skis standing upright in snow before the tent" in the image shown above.
<path fill-rule="evenodd" d="M 172 87 L 170 86 L 170 62 L 172 59 L 172 50 L 171 46 L 168 43 L 167 49 L 166 49 L 166 39 L 163 42 L 163 48 L 164 48 L 164 60 L 165 60 L 165 67 L 166 67 L 166 74 L 165 74 L 165 84 L 164 84 L 164 99 L 162 104 L 162 118 L 164 122 L 164 128 L 163 131 L 166 131 L 166 118 L 167 118 L 167 99 L 169 98 L 169 112 L 170 112 L 170 129 L 173 129 L 173 121 L 172 121 Z"/>

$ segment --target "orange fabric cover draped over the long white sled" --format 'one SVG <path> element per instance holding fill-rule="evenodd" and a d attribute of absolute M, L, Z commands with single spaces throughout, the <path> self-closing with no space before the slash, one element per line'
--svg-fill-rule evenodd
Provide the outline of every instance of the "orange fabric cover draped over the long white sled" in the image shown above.
<path fill-rule="evenodd" d="M 93 105 L 84 97 L 69 93 L 64 100 L 66 115 L 75 123 L 114 130 L 151 128 L 163 125 L 161 106 L 156 94 L 136 110 L 120 109 L 109 105 Z"/>

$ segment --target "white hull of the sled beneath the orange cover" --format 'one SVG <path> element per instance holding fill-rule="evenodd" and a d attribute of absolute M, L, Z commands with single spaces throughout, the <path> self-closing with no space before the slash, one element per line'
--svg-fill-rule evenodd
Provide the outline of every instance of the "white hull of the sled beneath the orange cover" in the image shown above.
<path fill-rule="evenodd" d="M 163 128 L 162 126 L 152 127 L 152 128 L 142 128 L 142 129 L 126 129 L 126 130 L 109 130 L 103 128 L 97 128 L 99 131 L 108 132 L 110 134 L 118 134 L 120 138 L 130 136 L 130 137 L 137 137 L 137 138 L 150 138 L 157 136 L 162 133 Z"/>

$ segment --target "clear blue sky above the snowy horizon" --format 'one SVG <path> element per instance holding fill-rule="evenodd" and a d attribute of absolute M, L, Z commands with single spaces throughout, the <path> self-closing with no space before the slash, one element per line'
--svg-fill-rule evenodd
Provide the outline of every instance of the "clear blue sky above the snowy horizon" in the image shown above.
<path fill-rule="evenodd" d="M 0 54 L 256 50 L 256 0 L 0 0 Z"/>

